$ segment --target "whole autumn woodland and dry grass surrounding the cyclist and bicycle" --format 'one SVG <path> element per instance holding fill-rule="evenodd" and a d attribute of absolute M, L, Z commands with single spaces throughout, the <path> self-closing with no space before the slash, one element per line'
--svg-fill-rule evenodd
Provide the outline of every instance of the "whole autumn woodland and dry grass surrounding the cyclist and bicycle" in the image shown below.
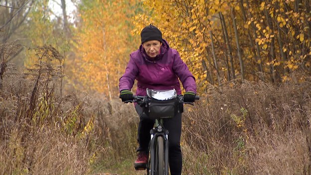
<path fill-rule="evenodd" d="M 0 174 L 143 174 L 118 79 L 149 23 L 201 96 L 183 174 L 311 174 L 311 0 L 72 3 L 0 0 Z"/>

